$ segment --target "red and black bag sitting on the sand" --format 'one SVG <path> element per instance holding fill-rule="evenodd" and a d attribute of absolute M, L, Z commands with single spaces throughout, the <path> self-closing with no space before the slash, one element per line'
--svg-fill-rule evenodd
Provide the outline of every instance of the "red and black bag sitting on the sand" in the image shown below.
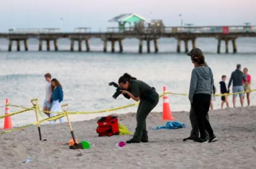
<path fill-rule="evenodd" d="M 98 127 L 96 132 L 99 134 L 99 137 L 119 135 L 119 126 L 116 116 L 102 117 L 97 123 Z"/>

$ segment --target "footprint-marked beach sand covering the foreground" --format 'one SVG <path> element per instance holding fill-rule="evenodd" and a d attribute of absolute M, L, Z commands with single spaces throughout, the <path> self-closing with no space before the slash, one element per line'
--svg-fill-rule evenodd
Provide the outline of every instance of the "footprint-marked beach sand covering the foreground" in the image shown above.
<path fill-rule="evenodd" d="M 215 135 L 214 143 L 195 143 L 182 139 L 189 136 L 191 126 L 188 112 L 173 112 L 176 120 L 188 125 L 178 130 L 150 130 L 163 126 L 162 114 L 152 112 L 147 118 L 149 143 L 128 144 L 116 147 L 130 135 L 98 137 L 97 119 L 72 122 L 78 141 L 95 144 L 90 149 L 71 150 L 67 143 L 71 138 L 67 123 L 30 126 L 24 130 L 0 136 L 0 168 L 15 169 L 253 169 L 256 166 L 256 107 L 230 108 L 209 112 Z M 74 115 L 82 116 L 82 115 Z M 131 132 L 136 127 L 136 114 L 118 115 L 118 120 Z M 22 163 L 32 157 L 31 163 Z"/>

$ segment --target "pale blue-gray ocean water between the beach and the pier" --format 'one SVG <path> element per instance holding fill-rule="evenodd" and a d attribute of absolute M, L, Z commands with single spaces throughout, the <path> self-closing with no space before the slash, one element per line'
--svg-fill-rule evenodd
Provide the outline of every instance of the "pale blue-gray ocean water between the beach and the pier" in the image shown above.
<path fill-rule="evenodd" d="M 117 82 L 118 78 L 126 72 L 154 86 L 159 94 L 162 93 L 163 86 L 167 86 L 170 92 L 188 93 L 194 66 L 190 57 L 184 53 L 183 43 L 182 53 L 176 53 L 176 40 L 163 38 L 159 40 L 159 53 L 154 53 L 153 43 L 151 43 L 152 53 L 146 53 L 144 42 L 142 54 L 138 53 L 137 39 L 125 39 L 123 43 L 124 53 L 110 53 L 110 43 L 108 43 L 108 53 L 103 53 L 103 41 L 99 39 L 90 40 L 91 52 L 85 51 L 84 42 L 82 44 L 84 51 L 70 52 L 70 41 L 60 39 L 58 41 L 60 51 L 39 52 L 37 51 L 38 41 L 30 39 L 29 51 L 16 52 L 14 42 L 13 51 L 8 52 L 8 40 L 0 39 L 0 110 L 2 114 L 4 114 L 5 98 L 9 98 L 11 104 L 28 107 L 32 106 L 30 102 L 32 98 L 38 98 L 42 109 L 46 84 L 45 73 L 51 73 L 52 77 L 62 84 L 63 103 L 69 104 L 70 111 L 104 110 L 134 103 L 134 100 L 128 100 L 123 96 L 115 100 L 112 95 L 116 90 L 113 86 L 108 86 L 109 82 Z M 221 76 L 227 75 L 226 85 L 228 85 L 230 75 L 238 63 L 242 68 L 248 68 L 248 73 L 252 75 L 252 89 L 256 88 L 254 83 L 256 38 L 238 38 L 236 54 L 232 53 L 231 43 L 229 44 L 230 53 L 224 53 L 223 41 L 222 53 L 217 54 L 217 40 L 213 38 L 199 38 L 196 43 L 197 47 L 204 52 L 206 62 L 214 73 L 217 93 L 220 93 Z M 191 42 L 189 47 L 192 48 Z M 76 44 L 75 50 L 77 48 Z M 51 49 L 53 50 L 53 44 Z M 21 50 L 24 50 L 23 44 Z M 43 50 L 46 50 L 45 44 Z M 116 44 L 116 51 L 118 51 L 118 44 Z M 172 111 L 190 109 L 188 96 L 169 95 L 169 100 Z M 229 101 L 232 106 L 231 97 Z M 216 97 L 216 101 L 213 102 L 214 109 L 219 109 L 220 103 L 220 97 Z M 251 93 L 251 105 L 256 105 L 256 92 Z M 238 98 L 237 106 L 240 106 Z M 20 109 L 11 107 L 11 112 L 18 110 Z M 133 106 L 108 113 L 70 115 L 70 118 L 72 121 L 88 120 L 96 116 L 136 112 L 136 110 L 137 106 Z M 162 111 L 161 99 L 153 111 Z M 35 113 L 32 111 L 12 116 L 14 126 L 29 124 L 35 120 Z M 2 125 L 3 119 L 0 119 L 0 128 Z"/>

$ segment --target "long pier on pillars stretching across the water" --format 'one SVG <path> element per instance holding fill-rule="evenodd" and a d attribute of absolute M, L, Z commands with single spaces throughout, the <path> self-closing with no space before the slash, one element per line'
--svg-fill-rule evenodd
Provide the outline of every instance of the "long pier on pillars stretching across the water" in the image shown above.
<path fill-rule="evenodd" d="M 184 52 L 188 52 L 188 43 L 196 47 L 198 38 L 215 38 L 217 53 L 220 53 L 221 42 L 226 47 L 228 53 L 228 43 L 231 41 L 233 53 L 237 52 L 236 39 L 238 37 L 256 37 L 256 26 L 186 26 L 186 27 L 128 27 L 128 28 L 107 28 L 106 32 L 92 32 L 90 28 L 76 28 L 74 32 L 61 32 L 57 28 L 45 29 L 9 29 L 9 33 L 0 33 L 0 38 L 9 40 L 8 51 L 12 51 L 14 41 L 16 50 L 20 51 L 20 43 L 24 43 L 24 50 L 28 51 L 28 39 L 38 39 L 38 51 L 42 51 L 43 41 L 46 41 L 46 50 L 50 51 L 50 41 L 54 42 L 54 50 L 58 51 L 58 39 L 70 39 L 70 51 L 74 51 L 75 41 L 78 43 L 78 51 L 82 51 L 82 41 L 85 41 L 86 51 L 90 51 L 90 39 L 99 38 L 102 40 L 103 52 L 107 52 L 108 43 L 111 45 L 111 52 L 123 52 L 123 40 L 127 38 L 138 39 L 138 52 L 142 53 L 143 41 L 146 41 L 147 52 L 151 52 L 150 43 L 154 43 L 154 52 L 158 52 L 158 39 L 177 39 L 177 53 L 181 52 L 181 43 L 184 42 Z M 118 42 L 119 50 L 116 50 Z"/>

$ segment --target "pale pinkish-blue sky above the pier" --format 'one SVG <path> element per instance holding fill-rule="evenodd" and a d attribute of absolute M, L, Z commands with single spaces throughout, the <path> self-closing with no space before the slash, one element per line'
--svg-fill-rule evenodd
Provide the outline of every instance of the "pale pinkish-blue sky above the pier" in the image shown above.
<path fill-rule="evenodd" d="M 165 26 L 256 25 L 256 0 L 2 0 L 0 32 L 9 28 L 77 27 L 106 31 L 118 24 L 114 16 L 136 13 L 150 22 L 162 19 Z M 182 15 L 182 17 L 179 16 Z"/>

